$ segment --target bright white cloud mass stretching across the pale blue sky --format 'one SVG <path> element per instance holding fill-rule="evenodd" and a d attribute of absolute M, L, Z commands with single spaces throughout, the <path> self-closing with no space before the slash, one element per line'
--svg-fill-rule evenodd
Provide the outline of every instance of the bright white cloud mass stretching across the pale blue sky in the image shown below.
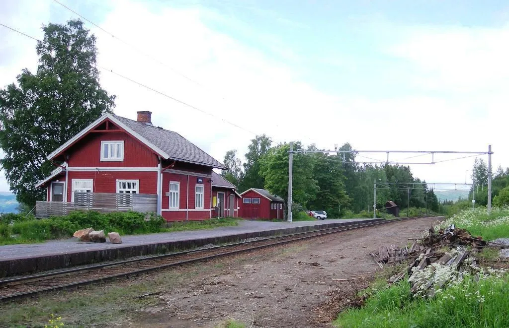
<path fill-rule="evenodd" d="M 17 11 L 17 18 L 10 22 L 34 34 L 40 24 L 47 23 L 45 13 L 52 5 L 45 6 L 28 14 L 27 21 L 33 26 L 24 29 L 19 23 L 24 14 Z M 52 21 L 63 23 L 73 17 L 61 7 L 52 8 Z M 501 41 L 507 37 L 505 26 L 409 27 L 404 37 L 384 44 L 384 53 L 410 63 L 410 71 L 394 70 L 393 74 L 406 77 L 420 92 L 381 99 L 372 97 L 369 89 L 363 97 L 318 90 L 299 79 L 298 68 L 291 62 L 282 62 L 207 25 L 208 19 L 220 16 L 204 7 L 176 9 L 166 4 L 149 7 L 142 2 L 113 1 L 108 8 L 98 22 L 101 27 L 157 60 L 87 25 L 97 36 L 98 63 L 216 117 L 102 71 L 103 87 L 117 95 L 115 112 L 135 118 L 136 111 L 151 110 L 154 124 L 179 132 L 218 160 L 230 149 L 242 155 L 254 137 L 222 118 L 254 133 L 266 133 L 277 142 L 302 140 L 324 148 L 350 142 L 357 149 L 487 150 L 487 143 L 492 142 L 497 152 L 494 166 L 509 163 L 509 157 L 501 154 L 509 118 L 503 92 L 509 73 L 505 65 L 509 50 Z M 257 31 L 252 27 L 243 33 L 256 35 Z M 4 84 L 36 60 L 33 42 L 17 35 L 9 40 L 10 48 L 0 48 L 13 58 L 8 65 L 0 64 Z M 269 41 L 270 48 L 278 38 Z M 281 48 L 280 55 L 300 60 L 292 49 Z M 437 155 L 435 159 L 446 158 L 451 157 Z M 471 163 L 472 159 L 464 159 L 413 170 L 428 181 L 457 182 L 464 180 Z"/>

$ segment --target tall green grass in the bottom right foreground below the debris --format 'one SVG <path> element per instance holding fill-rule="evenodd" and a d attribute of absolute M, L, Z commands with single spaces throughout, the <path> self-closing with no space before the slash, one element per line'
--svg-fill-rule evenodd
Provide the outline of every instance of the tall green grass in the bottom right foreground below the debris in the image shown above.
<path fill-rule="evenodd" d="M 349 309 L 336 327 L 509 327 L 509 277 L 465 279 L 431 300 L 410 296 L 408 281 L 378 287 L 360 309 Z M 477 294 L 478 292 L 478 294 Z"/>

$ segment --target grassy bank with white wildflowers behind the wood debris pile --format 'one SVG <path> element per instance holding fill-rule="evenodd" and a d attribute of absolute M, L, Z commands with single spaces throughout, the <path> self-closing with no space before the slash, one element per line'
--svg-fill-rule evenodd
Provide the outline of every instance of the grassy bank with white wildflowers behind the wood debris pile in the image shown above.
<path fill-rule="evenodd" d="M 455 214 L 437 227 L 447 227 L 454 223 L 459 228 L 467 229 L 472 236 L 485 240 L 509 237 L 509 207 L 494 207 L 488 215 L 485 207 L 468 209 Z"/>

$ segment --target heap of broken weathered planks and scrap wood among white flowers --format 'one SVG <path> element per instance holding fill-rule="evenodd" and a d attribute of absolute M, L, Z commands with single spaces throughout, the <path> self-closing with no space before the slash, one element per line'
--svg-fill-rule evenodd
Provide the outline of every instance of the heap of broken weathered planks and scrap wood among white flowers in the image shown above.
<path fill-rule="evenodd" d="M 412 294 L 431 298 L 442 286 L 467 272 L 478 279 L 477 264 L 470 254 L 482 250 L 488 243 L 451 224 L 438 232 L 430 228 L 427 236 L 410 247 L 381 246 L 371 255 L 380 268 L 408 263 L 387 282 L 390 285 L 408 276 Z"/>

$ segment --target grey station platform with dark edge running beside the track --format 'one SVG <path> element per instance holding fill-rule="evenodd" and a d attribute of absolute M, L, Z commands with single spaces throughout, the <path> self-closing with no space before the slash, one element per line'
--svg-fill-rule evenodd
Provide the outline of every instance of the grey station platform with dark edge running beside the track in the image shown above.
<path fill-rule="evenodd" d="M 298 222 L 241 220 L 237 226 L 198 231 L 121 236 L 122 244 L 79 242 L 75 238 L 37 244 L 0 246 L 0 277 L 100 263 L 133 256 L 192 249 L 209 244 L 232 243 L 249 238 L 287 235 L 353 222 L 380 219 L 330 219 Z"/>

